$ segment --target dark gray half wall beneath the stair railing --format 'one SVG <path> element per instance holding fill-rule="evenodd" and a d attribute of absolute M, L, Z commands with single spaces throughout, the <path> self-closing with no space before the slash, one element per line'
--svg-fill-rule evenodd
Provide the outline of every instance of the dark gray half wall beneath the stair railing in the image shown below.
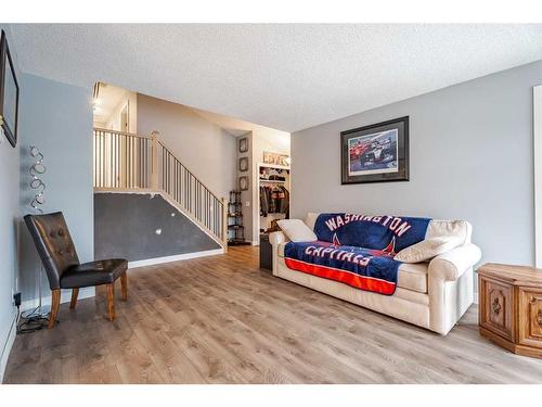
<path fill-rule="evenodd" d="M 95 258 L 130 262 L 220 249 L 159 194 L 94 193 Z"/>

